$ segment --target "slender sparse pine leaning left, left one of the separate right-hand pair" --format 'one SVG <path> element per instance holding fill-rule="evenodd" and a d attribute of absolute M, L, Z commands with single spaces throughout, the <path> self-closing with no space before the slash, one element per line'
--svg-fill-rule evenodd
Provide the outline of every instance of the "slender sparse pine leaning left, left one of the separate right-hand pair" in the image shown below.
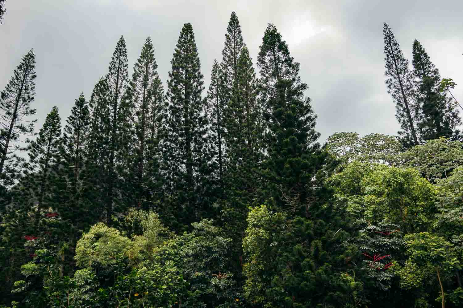
<path fill-rule="evenodd" d="M 418 145 L 416 134 L 416 116 L 419 114 L 419 105 L 414 99 L 415 82 L 412 72 L 408 69 L 408 60 L 400 49 L 399 42 L 388 24 L 384 23 L 384 60 L 386 61 L 385 75 L 388 77 L 386 85 L 395 103 L 395 117 L 402 128 L 399 131 L 400 139 L 409 148 Z"/>

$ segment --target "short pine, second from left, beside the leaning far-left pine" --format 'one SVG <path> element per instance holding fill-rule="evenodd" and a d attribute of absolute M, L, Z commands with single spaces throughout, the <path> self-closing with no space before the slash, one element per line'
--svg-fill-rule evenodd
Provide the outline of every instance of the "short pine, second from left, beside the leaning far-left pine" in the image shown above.
<path fill-rule="evenodd" d="M 56 184 L 56 163 L 60 160 L 61 148 L 61 118 L 58 107 L 53 107 L 45 118 L 44 126 L 38 132 L 38 137 L 30 141 L 29 161 L 26 163 L 27 181 L 33 181 L 37 201 L 35 224 L 38 225 L 42 209 L 54 207 L 49 198 L 50 189 Z"/>

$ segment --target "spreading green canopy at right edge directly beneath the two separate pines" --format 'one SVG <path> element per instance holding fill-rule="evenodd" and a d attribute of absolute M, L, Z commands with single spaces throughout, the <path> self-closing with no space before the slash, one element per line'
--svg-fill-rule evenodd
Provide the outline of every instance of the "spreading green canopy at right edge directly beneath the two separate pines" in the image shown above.
<path fill-rule="evenodd" d="M 463 165 L 463 143 L 441 137 L 417 145 L 401 154 L 402 164 L 413 167 L 431 183 L 450 176 Z"/>

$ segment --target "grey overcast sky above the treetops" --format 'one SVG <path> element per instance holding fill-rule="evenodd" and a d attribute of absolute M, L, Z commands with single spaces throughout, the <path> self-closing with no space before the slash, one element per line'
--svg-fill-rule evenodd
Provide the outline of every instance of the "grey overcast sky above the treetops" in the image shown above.
<path fill-rule="evenodd" d="M 207 89 L 213 60 L 222 59 L 232 10 L 254 63 L 268 22 L 280 31 L 310 87 L 306 94 L 319 116 L 321 142 L 335 132 L 395 134 L 399 129 L 384 83 L 384 22 L 410 60 L 418 39 L 441 76 L 461 84 L 454 95 L 463 101 L 461 0 L 6 0 L 6 10 L 0 25 L 0 88 L 34 48 L 36 131 L 51 107 L 58 106 L 64 123 L 80 92 L 90 98 L 121 35 L 130 74 L 151 36 L 165 86 L 181 27 L 192 23 Z"/>

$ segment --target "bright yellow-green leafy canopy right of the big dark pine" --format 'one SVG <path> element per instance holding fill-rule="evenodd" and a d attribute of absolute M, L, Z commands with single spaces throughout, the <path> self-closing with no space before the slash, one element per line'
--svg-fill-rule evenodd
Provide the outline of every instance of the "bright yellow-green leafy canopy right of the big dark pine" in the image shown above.
<path fill-rule="evenodd" d="M 435 214 L 436 189 L 413 169 L 353 162 L 329 181 L 355 218 L 388 218 L 413 231 L 425 228 Z"/>

